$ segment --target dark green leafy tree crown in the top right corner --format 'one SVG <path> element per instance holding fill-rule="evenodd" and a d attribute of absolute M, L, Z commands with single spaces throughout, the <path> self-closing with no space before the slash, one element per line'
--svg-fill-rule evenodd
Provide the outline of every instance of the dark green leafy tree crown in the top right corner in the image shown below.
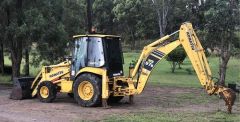
<path fill-rule="evenodd" d="M 229 0 L 212 0 L 206 3 L 207 40 L 211 40 L 206 44 L 210 48 L 220 47 L 221 44 L 226 46 L 227 43 L 234 44 L 232 46 L 239 46 L 236 43 L 239 39 L 236 38 L 235 32 L 240 26 L 240 10 L 237 2 L 234 5 L 231 4 Z"/>

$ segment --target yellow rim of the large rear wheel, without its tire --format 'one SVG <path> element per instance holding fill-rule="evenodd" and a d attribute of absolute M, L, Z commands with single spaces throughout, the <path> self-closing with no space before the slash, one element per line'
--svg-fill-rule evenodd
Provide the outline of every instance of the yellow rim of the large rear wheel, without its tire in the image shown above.
<path fill-rule="evenodd" d="M 93 97 L 93 85 L 89 81 L 83 81 L 78 86 L 78 94 L 83 100 L 90 100 Z"/>

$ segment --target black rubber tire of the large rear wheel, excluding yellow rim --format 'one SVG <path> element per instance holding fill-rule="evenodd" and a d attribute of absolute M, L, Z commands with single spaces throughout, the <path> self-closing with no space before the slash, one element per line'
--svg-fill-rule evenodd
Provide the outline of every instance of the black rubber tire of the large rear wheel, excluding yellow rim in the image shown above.
<path fill-rule="evenodd" d="M 93 86 L 93 96 L 89 100 L 84 100 L 80 97 L 78 93 L 78 87 L 83 81 L 88 81 Z M 102 94 L 102 81 L 101 79 L 93 74 L 86 73 L 77 77 L 73 84 L 73 94 L 76 102 L 84 107 L 98 106 L 101 104 L 101 94 Z"/>

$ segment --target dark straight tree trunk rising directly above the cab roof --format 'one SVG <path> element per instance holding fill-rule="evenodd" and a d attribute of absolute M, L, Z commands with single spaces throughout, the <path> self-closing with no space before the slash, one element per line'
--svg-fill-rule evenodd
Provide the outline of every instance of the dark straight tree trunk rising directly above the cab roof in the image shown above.
<path fill-rule="evenodd" d="M 92 33 L 92 0 L 87 0 L 87 29 Z"/>

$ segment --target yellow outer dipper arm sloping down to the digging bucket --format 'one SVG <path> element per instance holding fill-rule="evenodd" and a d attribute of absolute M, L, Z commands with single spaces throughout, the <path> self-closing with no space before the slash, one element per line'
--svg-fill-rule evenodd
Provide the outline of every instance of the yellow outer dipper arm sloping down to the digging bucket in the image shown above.
<path fill-rule="evenodd" d="M 211 71 L 209 70 L 210 68 L 208 63 L 205 62 L 206 57 L 204 51 L 202 50 L 203 48 L 190 23 L 182 25 L 180 30 L 179 38 L 181 43 L 192 63 L 195 72 L 197 73 L 201 85 L 205 86 L 207 82 L 211 82 L 209 79 L 211 78 Z M 213 84 L 208 85 L 212 86 Z"/>

